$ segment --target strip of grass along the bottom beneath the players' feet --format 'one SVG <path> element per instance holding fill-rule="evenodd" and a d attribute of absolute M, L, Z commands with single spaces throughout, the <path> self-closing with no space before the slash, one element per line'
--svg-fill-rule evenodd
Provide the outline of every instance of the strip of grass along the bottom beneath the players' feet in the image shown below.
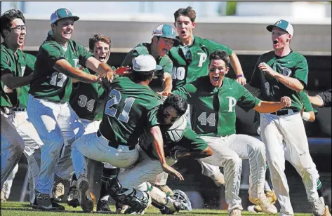
<path fill-rule="evenodd" d="M 6 202 L 6 203 L 1 203 L 1 216 L 78 216 L 78 215 L 83 215 L 83 216 L 105 216 L 109 214 L 105 213 L 97 213 L 97 212 L 92 212 L 92 213 L 84 213 L 81 212 L 81 208 L 72 208 L 67 205 L 65 205 L 66 210 L 63 212 L 48 212 L 48 211 L 41 211 L 41 210 L 32 210 L 31 207 L 28 206 L 29 203 L 16 203 L 16 202 Z M 111 206 L 111 209 L 114 210 L 114 206 Z M 115 214 L 112 214 L 115 215 Z M 145 215 L 147 216 L 152 216 L 152 215 L 161 215 L 159 210 L 157 208 L 149 208 L 146 212 Z M 181 211 L 175 213 L 175 215 L 196 215 L 196 216 L 207 216 L 207 215 L 227 215 L 227 211 L 225 210 L 214 210 L 214 209 L 198 209 L 198 210 L 193 210 L 191 212 L 189 211 Z M 253 214 L 252 212 L 248 211 L 243 211 L 242 215 L 263 215 L 263 214 Z M 309 216 L 311 214 L 295 214 L 296 216 Z"/>

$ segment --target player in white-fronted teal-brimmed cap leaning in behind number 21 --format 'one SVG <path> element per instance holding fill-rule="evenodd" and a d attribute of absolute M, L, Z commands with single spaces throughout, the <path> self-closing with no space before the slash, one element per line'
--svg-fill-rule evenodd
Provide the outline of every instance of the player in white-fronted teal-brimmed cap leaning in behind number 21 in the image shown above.
<path fill-rule="evenodd" d="M 168 57 L 168 51 L 177 44 L 179 41 L 176 38 L 176 32 L 171 25 L 159 25 L 154 29 L 152 33 L 151 43 L 140 43 L 133 48 L 122 62 L 122 66 L 132 67 L 133 58 L 138 55 L 150 54 L 157 61 L 157 64 L 163 67 L 157 74 L 154 74 L 154 81 L 150 83 L 152 90 L 158 92 L 160 86 L 158 86 L 158 80 L 163 81 L 164 91 L 159 93 L 161 95 L 168 95 L 172 91 L 172 68 L 173 62 Z"/>

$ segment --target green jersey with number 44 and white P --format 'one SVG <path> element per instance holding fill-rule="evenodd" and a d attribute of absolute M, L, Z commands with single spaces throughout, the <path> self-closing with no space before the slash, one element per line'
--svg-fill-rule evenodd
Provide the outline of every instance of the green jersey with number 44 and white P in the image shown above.
<path fill-rule="evenodd" d="M 235 105 L 246 112 L 257 106 L 260 100 L 236 80 L 225 77 L 220 88 L 211 85 L 208 76 L 175 90 L 192 104 L 192 129 L 198 135 L 227 136 L 235 131 Z"/>

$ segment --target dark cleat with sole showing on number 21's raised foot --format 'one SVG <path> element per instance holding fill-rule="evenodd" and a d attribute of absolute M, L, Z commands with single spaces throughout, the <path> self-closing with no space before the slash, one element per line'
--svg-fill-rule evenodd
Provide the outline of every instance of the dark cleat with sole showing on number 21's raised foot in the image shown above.
<path fill-rule="evenodd" d="M 84 212 L 91 212 L 93 210 L 93 201 L 89 191 L 88 179 L 80 176 L 77 180 L 79 191 L 79 203 Z"/>

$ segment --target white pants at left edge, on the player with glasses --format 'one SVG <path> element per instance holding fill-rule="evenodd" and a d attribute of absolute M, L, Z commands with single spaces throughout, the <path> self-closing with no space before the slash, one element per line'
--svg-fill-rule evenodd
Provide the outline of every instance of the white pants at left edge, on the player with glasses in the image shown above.
<path fill-rule="evenodd" d="M 24 142 L 13 125 L 12 114 L 1 111 L 1 189 L 24 151 Z"/>

